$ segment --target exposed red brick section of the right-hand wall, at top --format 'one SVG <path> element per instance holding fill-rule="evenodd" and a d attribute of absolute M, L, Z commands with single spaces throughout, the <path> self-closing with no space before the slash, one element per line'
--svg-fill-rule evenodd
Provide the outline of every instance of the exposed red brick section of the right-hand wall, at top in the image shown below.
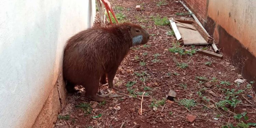
<path fill-rule="evenodd" d="M 184 0 L 188 8 L 197 16 L 201 24 L 204 25 L 207 19 L 208 0 Z"/>

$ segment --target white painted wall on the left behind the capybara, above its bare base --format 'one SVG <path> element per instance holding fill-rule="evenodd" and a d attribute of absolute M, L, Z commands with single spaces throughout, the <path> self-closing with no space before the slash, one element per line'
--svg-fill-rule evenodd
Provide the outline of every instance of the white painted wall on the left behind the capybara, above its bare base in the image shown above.
<path fill-rule="evenodd" d="M 93 25 L 95 0 L 0 6 L 0 128 L 30 128 L 62 69 L 66 40 Z"/>

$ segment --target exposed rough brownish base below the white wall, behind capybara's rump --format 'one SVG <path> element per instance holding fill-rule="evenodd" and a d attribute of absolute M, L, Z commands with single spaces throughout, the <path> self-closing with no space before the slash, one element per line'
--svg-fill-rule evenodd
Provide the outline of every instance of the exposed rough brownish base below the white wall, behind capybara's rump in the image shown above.
<path fill-rule="evenodd" d="M 66 104 L 66 94 L 65 82 L 60 74 L 32 128 L 53 128 L 58 113 Z"/>

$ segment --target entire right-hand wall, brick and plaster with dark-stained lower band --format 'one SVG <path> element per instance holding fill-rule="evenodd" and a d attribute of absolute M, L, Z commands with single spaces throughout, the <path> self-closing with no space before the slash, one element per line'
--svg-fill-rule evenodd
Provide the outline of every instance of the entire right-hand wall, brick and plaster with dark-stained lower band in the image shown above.
<path fill-rule="evenodd" d="M 196 13 L 205 29 L 238 71 L 249 81 L 256 80 L 256 1 L 203 0 L 206 5 L 196 1 L 201 0 L 185 0 L 192 11 L 205 8 Z"/>

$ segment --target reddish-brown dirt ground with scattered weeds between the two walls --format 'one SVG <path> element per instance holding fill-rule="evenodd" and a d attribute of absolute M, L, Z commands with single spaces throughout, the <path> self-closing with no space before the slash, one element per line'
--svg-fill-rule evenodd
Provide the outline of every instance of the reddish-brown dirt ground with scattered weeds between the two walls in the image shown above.
<path fill-rule="evenodd" d="M 84 96 L 83 88 L 80 93 L 69 94 L 55 128 L 228 128 L 227 124 L 237 128 L 256 127 L 250 124 L 256 123 L 256 95 L 251 83 L 234 82 L 243 77 L 222 51 L 222 59 L 171 52 L 176 40 L 174 35 L 167 35 L 170 25 L 155 25 L 152 17 L 193 19 L 181 3 L 175 0 L 110 2 L 116 15 L 122 13 L 126 21 L 143 26 L 151 34 L 150 41 L 132 47 L 121 63 L 114 79 L 119 91 L 111 102 L 90 101 Z M 141 5 L 142 10 L 136 11 L 136 5 Z M 99 25 L 97 18 L 95 26 Z M 211 46 L 176 47 L 213 51 Z M 166 99 L 170 89 L 177 93 L 174 101 Z M 99 93 L 109 93 L 108 86 L 101 87 Z M 195 120 L 188 122 L 187 115 L 195 116 Z"/>

